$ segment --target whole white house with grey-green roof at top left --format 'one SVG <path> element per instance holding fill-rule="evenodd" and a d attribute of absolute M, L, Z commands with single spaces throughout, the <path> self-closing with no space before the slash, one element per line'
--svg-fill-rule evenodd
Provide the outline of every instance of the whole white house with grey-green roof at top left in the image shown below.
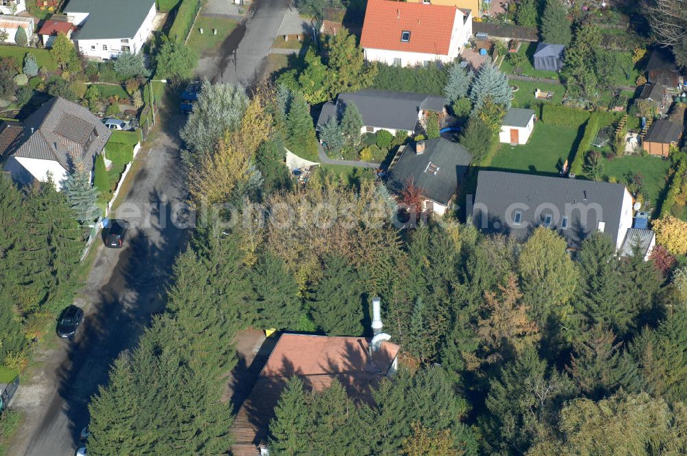
<path fill-rule="evenodd" d="M 141 51 L 153 32 L 155 0 L 69 0 L 65 14 L 78 27 L 71 38 L 82 54 L 108 60 Z"/>

